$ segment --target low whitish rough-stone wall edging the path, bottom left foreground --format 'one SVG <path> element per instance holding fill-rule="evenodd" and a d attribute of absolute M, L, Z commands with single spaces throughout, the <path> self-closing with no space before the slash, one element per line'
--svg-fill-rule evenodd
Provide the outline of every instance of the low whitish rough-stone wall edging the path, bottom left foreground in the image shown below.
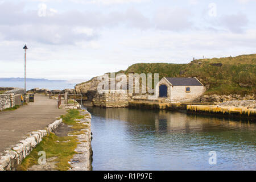
<path fill-rule="evenodd" d="M 62 119 L 48 125 L 45 130 L 33 131 L 29 137 L 21 140 L 15 147 L 0 154 L 0 171 L 14 171 L 32 149 L 42 141 L 43 137 L 55 130 L 61 122 Z"/>

